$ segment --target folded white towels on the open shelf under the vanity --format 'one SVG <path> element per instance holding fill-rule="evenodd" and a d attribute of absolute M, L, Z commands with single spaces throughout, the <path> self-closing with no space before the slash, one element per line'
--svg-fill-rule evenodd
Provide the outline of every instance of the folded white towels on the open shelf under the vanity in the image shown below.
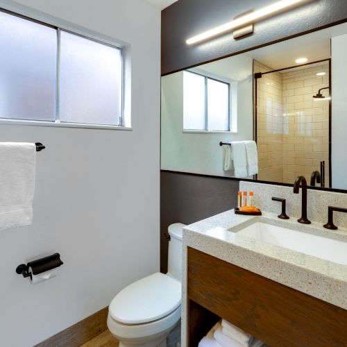
<path fill-rule="evenodd" d="M 260 347 L 262 341 L 237 328 L 225 319 L 219 321 L 198 344 L 198 347 Z"/>

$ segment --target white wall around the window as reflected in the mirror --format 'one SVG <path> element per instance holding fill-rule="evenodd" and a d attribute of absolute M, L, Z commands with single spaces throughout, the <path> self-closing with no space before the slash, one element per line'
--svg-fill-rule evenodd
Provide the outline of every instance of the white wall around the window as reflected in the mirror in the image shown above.
<path fill-rule="evenodd" d="M 198 68 L 237 81 L 237 133 L 183 133 L 183 72 L 164 76 L 161 168 L 231 177 L 219 142 L 253 139 L 253 60 L 242 54 Z"/>

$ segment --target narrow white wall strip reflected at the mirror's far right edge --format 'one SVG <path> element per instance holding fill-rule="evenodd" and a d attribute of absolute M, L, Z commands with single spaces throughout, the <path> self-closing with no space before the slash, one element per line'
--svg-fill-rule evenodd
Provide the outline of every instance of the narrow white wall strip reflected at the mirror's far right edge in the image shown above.
<path fill-rule="evenodd" d="M 347 35 L 332 37 L 332 187 L 347 189 Z"/>

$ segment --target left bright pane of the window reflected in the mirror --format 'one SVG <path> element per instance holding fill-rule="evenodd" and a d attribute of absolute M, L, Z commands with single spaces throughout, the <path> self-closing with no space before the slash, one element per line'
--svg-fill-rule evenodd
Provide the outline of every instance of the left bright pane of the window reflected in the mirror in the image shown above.
<path fill-rule="evenodd" d="M 205 130 L 205 77 L 183 72 L 183 128 Z"/>

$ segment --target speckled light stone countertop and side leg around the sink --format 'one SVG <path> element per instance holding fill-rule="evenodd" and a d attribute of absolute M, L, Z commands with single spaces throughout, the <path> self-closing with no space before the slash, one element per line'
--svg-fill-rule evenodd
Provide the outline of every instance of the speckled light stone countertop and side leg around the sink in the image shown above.
<path fill-rule="evenodd" d="M 187 247 L 347 310 L 347 265 L 237 235 L 239 230 L 257 221 L 347 242 L 346 228 L 327 230 L 321 223 L 303 225 L 295 218 L 282 220 L 266 212 L 260 217 L 246 217 L 230 210 L 186 226 L 183 232 L 183 346 L 186 346 L 187 327 Z"/>

